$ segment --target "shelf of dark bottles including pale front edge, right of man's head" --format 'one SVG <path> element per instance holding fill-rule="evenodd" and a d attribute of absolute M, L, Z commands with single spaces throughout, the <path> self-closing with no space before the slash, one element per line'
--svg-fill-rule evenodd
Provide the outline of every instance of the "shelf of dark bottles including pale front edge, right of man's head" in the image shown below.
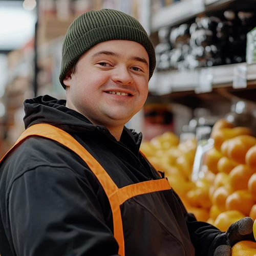
<path fill-rule="evenodd" d="M 150 81 L 151 92 L 205 93 L 213 88 L 238 89 L 255 83 L 254 9 L 222 10 L 216 16 L 201 16 L 192 23 L 161 28 L 155 47 L 157 66 Z"/>

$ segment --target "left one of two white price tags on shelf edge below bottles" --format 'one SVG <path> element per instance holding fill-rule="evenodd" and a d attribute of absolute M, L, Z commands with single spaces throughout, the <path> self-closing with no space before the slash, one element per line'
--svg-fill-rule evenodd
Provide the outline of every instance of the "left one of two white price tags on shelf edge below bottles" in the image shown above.
<path fill-rule="evenodd" d="M 212 74 L 212 69 L 202 69 L 199 73 L 198 85 L 195 88 L 195 93 L 209 93 L 212 91 L 212 81 L 214 80 L 214 75 Z"/>

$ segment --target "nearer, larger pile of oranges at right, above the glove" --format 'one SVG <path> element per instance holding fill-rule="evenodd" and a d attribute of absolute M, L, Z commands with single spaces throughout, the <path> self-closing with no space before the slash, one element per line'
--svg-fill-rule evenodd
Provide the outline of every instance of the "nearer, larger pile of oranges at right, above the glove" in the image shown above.
<path fill-rule="evenodd" d="M 246 216 L 256 219 L 256 138 L 247 127 L 233 127 L 224 119 L 212 129 L 215 141 L 205 154 L 206 172 L 215 175 L 209 185 L 209 223 L 222 231 Z"/>

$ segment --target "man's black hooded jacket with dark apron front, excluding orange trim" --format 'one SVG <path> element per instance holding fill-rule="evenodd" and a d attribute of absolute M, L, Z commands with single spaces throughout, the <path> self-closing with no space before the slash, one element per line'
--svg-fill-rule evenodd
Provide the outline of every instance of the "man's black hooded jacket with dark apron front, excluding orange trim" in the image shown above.
<path fill-rule="evenodd" d="M 119 188 L 159 179 L 139 153 L 141 134 L 124 128 L 118 142 L 65 103 L 47 95 L 26 100 L 25 127 L 49 123 L 68 132 Z M 118 255 L 102 186 L 86 163 L 57 142 L 34 136 L 12 151 L 1 163 L 0 198 L 2 256 Z M 205 256 L 220 233 L 187 214 L 172 189 L 133 198 L 121 212 L 126 256 Z"/>

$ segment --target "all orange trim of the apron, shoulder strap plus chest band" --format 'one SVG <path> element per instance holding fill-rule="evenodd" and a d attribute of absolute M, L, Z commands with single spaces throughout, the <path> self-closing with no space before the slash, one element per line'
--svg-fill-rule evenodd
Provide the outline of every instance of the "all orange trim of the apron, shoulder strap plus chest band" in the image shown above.
<path fill-rule="evenodd" d="M 69 135 L 65 131 L 50 124 L 41 123 L 30 126 L 18 138 L 11 150 L 13 150 L 15 146 L 17 146 L 29 136 L 41 136 L 51 140 L 55 140 L 62 145 L 70 148 L 70 150 L 75 152 L 81 159 L 83 159 L 84 162 L 87 163 L 89 168 L 99 180 L 101 186 L 106 193 L 106 196 L 109 198 L 113 214 L 114 237 L 119 245 L 118 253 L 121 256 L 124 256 L 124 237 L 120 205 L 123 204 L 126 200 L 135 196 L 153 193 L 156 191 L 168 190 L 170 189 L 169 182 L 166 179 L 159 179 L 140 182 L 118 188 L 114 181 L 111 179 L 111 177 L 108 175 L 108 173 L 106 173 L 104 168 L 81 144 L 79 144 L 79 142 L 77 142 L 71 135 Z M 5 156 L 9 152 L 7 152 Z M 5 156 L 2 158 L 2 160 L 5 158 Z"/>

